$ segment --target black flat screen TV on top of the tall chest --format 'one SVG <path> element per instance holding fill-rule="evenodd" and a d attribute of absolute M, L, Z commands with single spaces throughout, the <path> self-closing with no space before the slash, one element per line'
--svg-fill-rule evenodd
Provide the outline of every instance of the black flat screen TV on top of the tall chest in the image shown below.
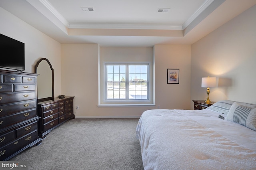
<path fill-rule="evenodd" d="M 25 44 L 0 34 L 0 67 L 25 70 Z"/>

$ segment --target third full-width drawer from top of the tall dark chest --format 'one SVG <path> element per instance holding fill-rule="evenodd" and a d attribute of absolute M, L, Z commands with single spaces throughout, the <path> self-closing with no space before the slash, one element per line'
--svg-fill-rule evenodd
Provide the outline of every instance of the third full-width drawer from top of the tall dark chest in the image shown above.
<path fill-rule="evenodd" d="M 21 113 L 16 113 L 6 117 L 1 117 L 0 128 L 8 127 L 10 125 L 14 125 L 15 123 L 19 123 L 19 122 L 31 119 L 33 117 L 36 117 L 36 109 L 30 110 L 30 111 L 24 111 Z"/>

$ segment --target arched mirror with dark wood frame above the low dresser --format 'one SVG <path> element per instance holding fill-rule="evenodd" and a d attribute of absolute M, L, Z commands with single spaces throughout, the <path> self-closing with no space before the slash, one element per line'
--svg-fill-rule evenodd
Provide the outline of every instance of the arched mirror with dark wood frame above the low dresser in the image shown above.
<path fill-rule="evenodd" d="M 37 101 L 54 100 L 54 74 L 50 61 L 41 58 L 35 66 L 37 77 Z"/>

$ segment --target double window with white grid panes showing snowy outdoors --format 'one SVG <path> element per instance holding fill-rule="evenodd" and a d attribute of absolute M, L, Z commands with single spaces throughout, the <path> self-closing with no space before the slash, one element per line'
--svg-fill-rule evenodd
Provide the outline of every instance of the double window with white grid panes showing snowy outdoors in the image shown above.
<path fill-rule="evenodd" d="M 105 63 L 107 102 L 149 101 L 149 63 Z"/>

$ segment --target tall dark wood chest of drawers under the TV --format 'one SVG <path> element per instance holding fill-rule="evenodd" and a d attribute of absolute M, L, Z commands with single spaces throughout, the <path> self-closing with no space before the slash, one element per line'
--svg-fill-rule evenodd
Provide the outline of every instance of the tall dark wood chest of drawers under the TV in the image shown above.
<path fill-rule="evenodd" d="M 37 74 L 0 70 L 0 160 L 40 144 Z"/>

